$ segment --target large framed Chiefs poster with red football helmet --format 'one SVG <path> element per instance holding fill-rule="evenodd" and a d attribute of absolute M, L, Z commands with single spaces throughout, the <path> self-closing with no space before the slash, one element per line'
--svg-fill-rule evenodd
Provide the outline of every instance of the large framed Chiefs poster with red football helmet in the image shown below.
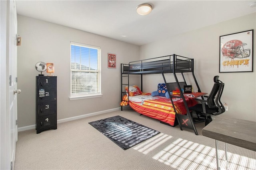
<path fill-rule="evenodd" d="M 220 36 L 219 72 L 253 72 L 253 29 Z"/>

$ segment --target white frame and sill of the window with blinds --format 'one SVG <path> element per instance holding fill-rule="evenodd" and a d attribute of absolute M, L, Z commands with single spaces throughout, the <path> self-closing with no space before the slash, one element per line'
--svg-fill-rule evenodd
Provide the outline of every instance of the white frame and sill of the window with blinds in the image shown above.
<path fill-rule="evenodd" d="M 72 62 L 71 62 L 71 45 L 76 45 L 76 46 L 90 48 L 90 49 L 97 49 L 98 50 L 98 71 L 72 69 L 72 67 L 71 67 L 71 64 L 72 64 Z M 101 62 L 101 49 L 100 49 L 100 47 L 70 41 L 70 97 L 69 97 L 69 100 L 80 100 L 80 99 L 86 99 L 86 98 L 102 97 L 102 94 L 101 94 L 101 64 L 100 64 L 100 62 Z M 98 72 L 98 92 L 97 93 L 72 94 L 72 72 L 83 72 L 83 71 L 84 72 Z"/>

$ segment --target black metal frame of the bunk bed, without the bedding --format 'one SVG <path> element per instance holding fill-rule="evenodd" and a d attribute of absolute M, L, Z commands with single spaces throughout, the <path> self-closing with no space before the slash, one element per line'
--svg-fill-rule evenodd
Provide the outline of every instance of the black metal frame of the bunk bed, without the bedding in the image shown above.
<path fill-rule="evenodd" d="M 121 101 L 124 94 L 126 94 L 126 92 L 123 91 L 124 86 L 130 86 L 129 75 L 132 75 L 132 74 L 140 75 L 140 83 L 141 83 L 140 85 L 142 90 L 143 74 L 162 74 L 164 83 L 167 85 L 170 100 L 172 102 L 172 106 L 176 113 L 176 119 L 180 126 L 180 130 L 183 130 L 182 127 L 193 129 L 195 134 L 198 135 L 198 132 L 196 131 L 196 127 L 194 125 L 192 115 L 190 114 L 190 111 L 188 109 L 188 105 L 186 104 L 186 100 L 184 98 L 183 93 L 180 93 L 180 98 L 182 98 L 184 105 L 186 107 L 186 110 L 187 110 L 186 115 L 177 114 L 176 109 L 174 107 L 174 102 L 172 100 L 172 98 L 177 98 L 177 96 L 172 96 L 170 94 L 170 91 L 175 90 L 175 89 L 170 89 L 172 88 L 171 84 L 174 84 L 174 83 L 176 84 L 176 87 L 180 90 L 180 92 L 182 91 L 180 82 L 178 81 L 176 74 L 177 73 L 182 74 L 182 78 L 184 80 L 183 83 L 186 84 L 186 80 L 183 74 L 185 72 L 190 72 L 192 74 L 194 81 L 196 83 L 196 86 L 198 88 L 198 92 L 201 92 L 198 82 L 196 81 L 196 77 L 194 75 L 194 59 L 173 54 L 173 55 L 167 55 L 167 56 L 156 57 L 151 59 L 132 61 L 129 64 L 121 63 Z M 173 73 L 173 76 L 176 82 L 170 82 L 170 83 L 166 82 L 166 78 L 164 76 L 164 74 L 166 73 Z M 124 77 L 127 77 L 128 79 L 126 80 L 126 83 L 124 83 L 124 80 L 123 80 Z M 128 101 L 129 101 L 129 96 L 128 96 Z M 123 106 L 121 106 L 121 110 L 123 110 Z"/>

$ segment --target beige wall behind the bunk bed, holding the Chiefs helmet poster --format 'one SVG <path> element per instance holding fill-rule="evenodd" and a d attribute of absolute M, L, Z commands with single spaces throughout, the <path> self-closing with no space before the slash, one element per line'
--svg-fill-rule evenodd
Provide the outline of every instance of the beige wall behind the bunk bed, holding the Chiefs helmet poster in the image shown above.
<path fill-rule="evenodd" d="M 222 101 L 228 104 L 228 111 L 223 115 L 256 121 L 255 51 L 254 72 L 219 73 L 219 37 L 251 29 L 254 29 L 254 50 L 256 50 L 256 13 L 254 13 L 143 45 L 140 47 L 140 59 L 171 54 L 194 58 L 194 73 L 202 92 L 210 93 L 215 75 L 219 75 L 220 80 L 225 83 Z M 144 84 L 147 86 L 143 88 L 152 92 L 160 82 L 163 82 L 161 75 L 144 76 Z"/>

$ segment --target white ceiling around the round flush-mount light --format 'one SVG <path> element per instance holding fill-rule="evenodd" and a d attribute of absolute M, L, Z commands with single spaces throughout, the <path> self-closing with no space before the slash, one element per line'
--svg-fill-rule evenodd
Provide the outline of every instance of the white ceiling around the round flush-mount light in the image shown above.
<path fill-rule="evenodd" d="M 256 0 L 16 0 L 16 6 L 18 15 L 144 45 L 254 13 L 252 2 Z M 147 16 L 136 13 L 142 3 L 153 6 Z"/>

